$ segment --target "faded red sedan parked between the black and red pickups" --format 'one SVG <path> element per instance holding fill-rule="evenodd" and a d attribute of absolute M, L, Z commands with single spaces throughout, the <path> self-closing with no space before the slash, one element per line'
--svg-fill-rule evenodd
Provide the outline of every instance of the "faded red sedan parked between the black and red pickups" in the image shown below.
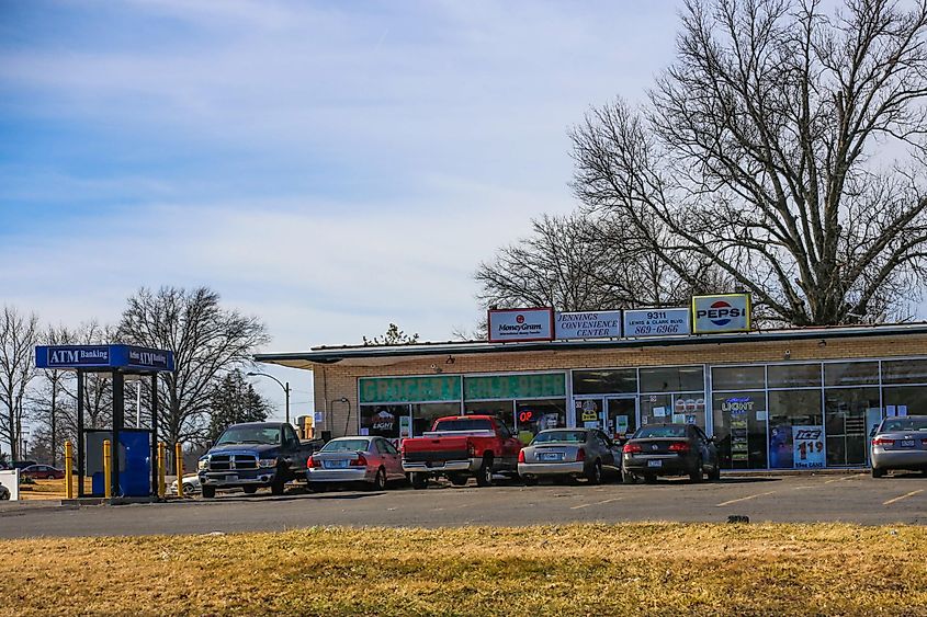
<path fill-rule="evenodd" d="M 309 489 L 347 482 L 364 482 L 377 491 L 392 480 L 403 480 L 399 450 L 383 437 L 338 437 L 314 453 L 306 461 Z"/>

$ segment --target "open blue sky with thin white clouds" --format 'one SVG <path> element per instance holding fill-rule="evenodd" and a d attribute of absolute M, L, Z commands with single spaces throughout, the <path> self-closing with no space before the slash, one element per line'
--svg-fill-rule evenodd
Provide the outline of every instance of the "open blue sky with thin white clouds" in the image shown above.
<path fill-rule="evenodd" d="M 575 206 L 569 126 L 644 95 L 677 9 L 0 0 L 0 297 L 77 325 L 208 285 L 264 351 L 448 340 L 478 262 Z"/>

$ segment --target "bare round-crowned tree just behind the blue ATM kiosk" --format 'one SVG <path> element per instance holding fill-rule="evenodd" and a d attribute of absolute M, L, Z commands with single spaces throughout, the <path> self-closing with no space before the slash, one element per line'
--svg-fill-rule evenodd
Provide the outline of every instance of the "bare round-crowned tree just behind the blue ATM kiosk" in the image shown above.
<path fill-rule="evenodd" d="M 256 317 L 224 309 L 206 287 L 143 287 L 128 298 L 118 336 L 173 352 L 176 372 L 161 375 L 158 391 L 159 426 L 171 443 L 205 439 L 214 379 L 250 362 L 270 340 Z"/>

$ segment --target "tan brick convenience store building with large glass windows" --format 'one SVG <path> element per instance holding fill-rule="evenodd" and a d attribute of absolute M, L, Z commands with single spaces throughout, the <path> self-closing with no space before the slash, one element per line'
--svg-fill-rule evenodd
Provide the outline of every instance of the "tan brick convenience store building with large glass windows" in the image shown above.
<path fill-rule="evenodd" d="M 400 439 L 460 413 L 495 414 L 524 439 L 688 422 L 719 437 L 725 469 L 864 466 L 883 418 L 927 413 L 927 323 L 551 339 L 255 359 L 312 370 L 316 429 L 331 436 Z"/>

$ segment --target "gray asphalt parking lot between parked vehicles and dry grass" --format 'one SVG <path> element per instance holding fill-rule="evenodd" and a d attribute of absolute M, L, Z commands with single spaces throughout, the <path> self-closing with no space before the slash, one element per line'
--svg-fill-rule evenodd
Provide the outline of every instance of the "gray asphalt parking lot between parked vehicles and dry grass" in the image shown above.
<path fill-rule="evenodd" d="M 538 525 L 631 521 L 845 522 L 864 525 L 927 523 L 927 478 L 872 479 L 864 473 L 724 477 L 690 484 L 598 487 L 517 483 L 479 489 L 471 483 L 415 491 L 292 489 L 273 496 L 219 494 L 214 500 L 121 506 L 55 506 L 55 502 L 0 507 L 0 537 L 204 534 L 282 530 L 313 525 L 420 526 Z"/>

